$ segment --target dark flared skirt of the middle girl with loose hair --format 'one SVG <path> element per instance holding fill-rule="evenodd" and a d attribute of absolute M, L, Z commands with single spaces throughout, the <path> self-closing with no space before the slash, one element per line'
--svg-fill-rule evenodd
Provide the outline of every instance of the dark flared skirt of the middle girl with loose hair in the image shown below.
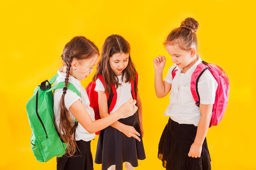
<path fill-rule="evenodd" d="M 119 122 L 133 126 L 141 133 L 137 113 L 119 119 Z M 102 163 L 102 170 L 107 170 L 111 165 L 116 165 L 116 170 L 122 170 L 124 162 L 130 162 L 133 167 L 137 167 L 138 159 L 146 158 L 142 138 L 141 136 L 139 138 L 141 141 L 134 137 L 129 138 L 119 130 L 108 126 L 99 134 L 95 163 Z"/>

